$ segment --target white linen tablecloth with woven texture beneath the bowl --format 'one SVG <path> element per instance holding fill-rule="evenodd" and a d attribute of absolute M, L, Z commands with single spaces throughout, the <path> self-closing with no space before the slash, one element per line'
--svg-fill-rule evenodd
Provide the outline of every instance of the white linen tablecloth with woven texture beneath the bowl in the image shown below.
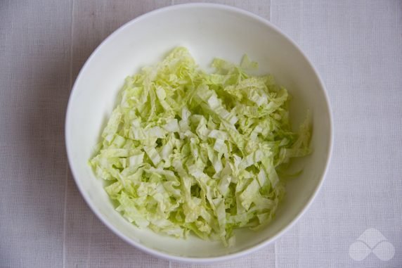
<path fill-rule="evenodd" d="M 311 58 L 330 96 L 335 146 L 328 176 L 278 241 L 231 262 L 179 264 L 129 246 L 93 215 L 65 154 L 72 83 L 117 27 L 185 2 L 0 1 L 0 267 L 402 267 L 397 0 L 214 1 L 280 27 Z"/>

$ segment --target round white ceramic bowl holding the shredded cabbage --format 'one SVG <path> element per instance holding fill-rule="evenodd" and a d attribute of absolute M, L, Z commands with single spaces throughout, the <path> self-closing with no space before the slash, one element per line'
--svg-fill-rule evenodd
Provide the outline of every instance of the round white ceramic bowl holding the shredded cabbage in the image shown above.
<path fill-rule="evenodd" d="M 242 55 L 257 60 L 261 73 L 272 73 L 292 94 L 294 125 L 313 115 L 313 153 L 297 160 L 304 167 L 287 183 L 287 196 L 271 224 L 260 231 L 242 229 L 236 243 L 187 240 L 138 229 L 113 208 L 87 164 L 101 129 L 115 106 L 124 78 L 157 63 L 176 46 L 186 46 L 201 68 L 216 56 L 239 63 Z M 306 211 L 323 183 L 332 148 L 328 97 L 304 53 L 276 27 L 257 15 L 216 4 L 184 4 L 147 13 L 120 27 L 98 46 L 74 84 L 65 122 L 67 155 L 79 191 L 93 212 L 118 236 L 141 250 L 169 260 L 214 262 L 239 257 L 271 243 Z"/>

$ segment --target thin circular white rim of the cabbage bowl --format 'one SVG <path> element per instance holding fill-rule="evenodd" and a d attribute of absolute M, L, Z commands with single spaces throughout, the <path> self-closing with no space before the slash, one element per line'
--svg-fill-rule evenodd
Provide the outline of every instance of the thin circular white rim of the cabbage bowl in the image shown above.
<path fill-rule="evenodd" d="M 84 191 L 84 188 L 83 188 L 82 184 L 80 183 L 79 179 L 77 179 L 77 174 L 74 171 L 74 167 L 72 166 L 72 160 L 71 160 L 72 159 L 72 153 L 70 151 L 70 140 L 68 139 L 68 135 L 67 135 L 68 133 L 70 133 L 70 125 L 69 125 L 70 114 L 72 113 L 72 111 L 71 111 L 72 110 L 72 100 L 74 99 L 74 96 L 77 94 L 77 91 L 78 91 L 78 89 L 76 88 L 77 83 L 80 80 L 80 78 L 82 76 L 82 73 L 86 69 L 87 65 L 89 65 L 91 60 L 93 60 L 93 58 L 96 57 L 96 54 L 98 53 L 100 48 L 102 46 L 104 46 L 105 43 L 110 42 L 110 40 L 113 39 L 117 34 L 119 34 L 119 32 L 122 32 L 122 30 L 124 30 L 126 27 L 129 27 L 130 25 L 136 23 L 139 20 L 144 20 L 144 19 L 146 19 L 148 17 L 152 17 L 153 15 L 157 15 L 159 13 L 164 13 L 164 12 L 169 12 L 169 11 L 179 10 L 179 9 L 184 9 L 184 8 L 215 8 L 215 9 L 220 9 L 222 11 L 230 11 L 232 13 L 237 13 L 238 15 L 242 15 L 242 16 L 251 18 L 252 20 L 257 20 L 257 22 L 266 25 L 266 27 L 271 28 L 271 30 L 273 30 L 274 32 L 276 32 L 277 34 L 282 36 L 287 42 L 290 42 L 290 44 L 292 46 L 294 46 L 294 49 L 296 49 L 301 54 L 301 56 L 304 58 L 304 60 L 306 60 L 306 63 L 309 65 L 309 67 L 313 71 L 313 74 L 316 75 L 316 78 L 318 79 L 318 83 L 319 83 L 321 89 L 323 90 L 323 94 L 324 94 L 324 97 L 325 97 L 325 103 L 326 103 L 326 105 L 328 107 L 328 115 L 329 115 L 329 119 L 330 119 L 329 120 L 330 139 L 329 139 L 329 144 L 327 145 L 329 149 L 328 149 L 327 160 L 325 162 L 325 168 L 324 168 L 322 176 L 320 177 L 320 181 L 316 185 L 312 195 L 309 197 L 309 200 L 307 201 L 306 205 L 304 205 L 304 208 L 302 208 L 297 213 L 296 217 L 294 217 L 292 219 L 292 221 L 290 221 L 285 226 L 283 226 L 283 228 L 280 229 L 280 231 L 278 231 L 278 233 L 275 234 L 274 236 L 272 236 L 271 238 L 266 239 L 265 241 L 261 241 L 260 243 L 257 243 L 255 245 L 252 245 L 252 247 L 247 248 L 245 250 L 240 250 L 240 251 L 235 252 L 235 253 L 230 253 L 230 254 L 227 254 L 227 255 L 221 255 L 221 256 L 216 256 L 216 257 L 184 257 L 184 256 L 171 255 L 169 253 L 164 253 L 162 251 L 155 250 L 153 248 L 148 248 L 147 246 L 141 244 L 140 242 L 131 240 L 130 238 L 128 238 L 127 236 L 122 234 L 121 231 L 119 231 L 117 228 L 115 228 L 115 226 L 112 226 L 112 224 L 110 224 L 108 222 L 108 220 L 105 219 L 105 217 L 103 217 L 100 214 L 100 212 L 98 212 L 98 210 L 96 209 L 95 205 L 93 205 L 93 203 L 91 203 L 91 199 L 89 198 L 89 195 Z M 321 79 L 320 75 L 318 75 L 318 71 L 316 70 L 316 68 L 314 68 L 313 64 L 311 63 L 309 58 L 307 58 L 306 54 L 303 51 L 301 51 L 299 46 L 295 42 L 293 42 L 292 39 L 290 39 L 290 37 L 287 37 L 287 35 L 285 33 L 283 33 L 281 30 L 279 30 L 278 27 L 276 27 L 275 25 L 270 23 L 265 18 L 261 18 L 259 15 L 256 15 L 256 14 L 254 14 L 252 12 L 245 11 L 245 10 L 240 9 L 240 8 L 236 8 L 234 6 L 227 6 L 227 5 L 224 5 L 224 4 L 190 3 L 190 4 L 177 4 L 177 5 L 172 5 L 172 6 L 165 6 L 165 7 L 162 7 L 162 8 L 157 8 L 157 9 L 155 9 L 153 11 L 148 12 L 148 13 L 144 13 L 143 15 L 139 15 L 138 17 L 136 17 L 136 18 L 134 18 L 132 20 L 129 20 L 129 22 L 124 23 L 124 25 L 120 26 L 117 30 L 112 32 L 112 34 L 110 34 L 108 37 L 106 37 L 96 47 L 96 49 L 91 53 L 91 56 L 89 56 L 89 58 L 86 60 L 86 62 L 82 66 L 81 70 L 79 71 L 79 74 L 77 75 L 77 78 L 74 81 L 74 84 L 72 86 L 72 90 L 70 91 L 70 97 L 68 99 L 68 104 L 67 104 L 67 112 L 66 112 L 66 115 L 65 115 L 65 146 L 66 146 L 66 151 L 67 151 L 68 164 L 70 166 L 70 171 L 72 172 L 72 177 L 74 178 L 75 184 L 77 185 L 77 188 L 79 189 L 79 192 L 81 193 L 82 197 L 86 201 L 86 204 L 89 205 L 89 208 L 91 208 L 93 213 L 98 217 L 98 219 L 100 219 L 101 222 L 103 222 L 103 224 L 108 226 L 108 228 L 113 233 L 115 233 L 117 236 L 119 236 L 119 238 L 122 238 L 122 240 L 126 241 L 130 245 L 134 245 L 134 247 L 138 248 L 139 250 L 142 250 L 143 252 L 148 253 L 150 255 L 153 255 L 155 257 L 160 257 L 160 258 L 162 258 L 164 260 L 173 260 L 173 261 L 185 262 L 185 263 L 212 263 L 212 262 L 222 262 L 222 261 L 227 261 L 227 260 L 233 260 L 235 258 L 248 255 L 248 254 L 253 253 L 253 252 L 255 252 L 255 251 L 257 251 L 257 250 L 259 250 L 261 248 L 264 248 L 266 245 L 269 245 L 269 244 L 273 243 L 280 236 L 283 236 L 283 234 L 285 234 L 287 231 L 292 229 L 294 224 L 296 224 L 299 221 L 299 219 L 304 215 L 304 213 L 307 210 L 309 210 L 309 208 L 311 206 L 311 203 L 313 203 L 313 200 L 316 198 L 316 196 L 318 195 L 318 192 L 320 191 L 321 187 L 323 186 L 323 182 L 324 182 L 325 177 L 326 177 L 326 175 L 328 173 L 328 167 L 330 165 L 330 160 L 332 158 L 333 142 L 334 142 L 333 118 L 332 118 L 332 108 L 331 108 L 331 105 L 330 105 L 328 92 L 327 92 L 327 90 L 325 88 L 325 84 L 323 83 L 323 80 Z"/>

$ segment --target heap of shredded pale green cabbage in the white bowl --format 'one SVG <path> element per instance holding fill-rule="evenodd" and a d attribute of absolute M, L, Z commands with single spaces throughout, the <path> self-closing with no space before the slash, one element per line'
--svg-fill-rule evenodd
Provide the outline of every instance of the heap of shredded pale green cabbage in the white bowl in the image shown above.
<path fill-rule="evenodd" d="M 247 56 L 212 67 L 178 47 L 127 77 L 89 163 L 129 222 L 227 245 L 233 229 L 271 221 L 284 196 L 278 167 L 310 153 L 311 123 L 292 132 L 287 90 L 247 75 L 257 68 Z"/>

